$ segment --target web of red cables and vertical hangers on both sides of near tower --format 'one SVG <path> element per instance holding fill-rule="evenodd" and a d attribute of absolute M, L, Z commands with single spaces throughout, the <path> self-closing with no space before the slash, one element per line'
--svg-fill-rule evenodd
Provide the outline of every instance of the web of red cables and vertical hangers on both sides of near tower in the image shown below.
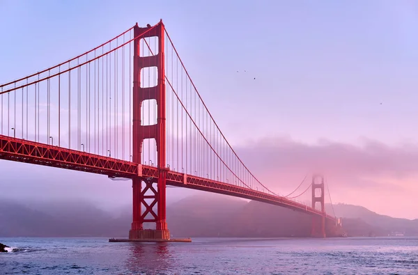
<path fill-rule="evenodd" d="M 132 162 L 134 40 L 140 56 L 158 54 L 158 38 L 134 37 L 132 27 L 75 58 L 0 85 L 0 134 Z M 233 150 L 167 31 L 164 68 L 167 168 L 279 196 Z M 142 95 L 148 100 L 141 104 L 141 125 L 155 125 L 157 102 L 149 98 L 158 70 L 145 66 L 139 77 L 141 87 L 149 88 Z M 141 164 L 157 163 L 155 139 L 144 140 Z M 283 198 L 295 201 L 307 194 L 311 184 L 294 195 L 306 178 Z"/>

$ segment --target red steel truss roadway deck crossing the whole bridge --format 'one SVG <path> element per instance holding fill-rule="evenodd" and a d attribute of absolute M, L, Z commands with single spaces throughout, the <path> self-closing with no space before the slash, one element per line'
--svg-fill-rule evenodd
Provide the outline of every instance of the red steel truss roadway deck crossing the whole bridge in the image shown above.
<path fill-rule="evenodd" d="M 160 174 L 159 169 L 154 166 L 135 164 L 134 162 L 3 135 L 0 135 L 0 159 L 98 173 L 109 177 L 156 179 Z M 167 184 L 169 185 L 279 205 L 306 214 L 325 216 L 326 219 L 335 222 L 335 218 L 329 214 L 281 196 L 166 169 Z"/>

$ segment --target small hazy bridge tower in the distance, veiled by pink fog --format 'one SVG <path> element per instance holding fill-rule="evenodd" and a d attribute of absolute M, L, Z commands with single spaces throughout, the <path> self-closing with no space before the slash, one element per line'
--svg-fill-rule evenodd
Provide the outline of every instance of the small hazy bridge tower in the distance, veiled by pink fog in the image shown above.
<path fill-rule="evenodd" d="M 316 180 L 320 179 L 317 183 Z M 316 203 L 320 203 L 320 211 L 323 212 L 322 216 L 312 216 L 312 237 L 325 237 L 325 184 L 324 177 L 322 175 L 312 176 L 312 208 L 316 209 Z"/>

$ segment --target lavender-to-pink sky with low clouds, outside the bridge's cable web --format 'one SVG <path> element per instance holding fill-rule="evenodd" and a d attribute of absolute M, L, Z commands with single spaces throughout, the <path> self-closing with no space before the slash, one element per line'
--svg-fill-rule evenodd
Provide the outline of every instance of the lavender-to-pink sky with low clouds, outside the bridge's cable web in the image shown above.
<path fill-rule="evenodd" d="M 268 187 L 286 194 L 321 171 L 334 203 L 418 219 L 415 1 L 0 0 L 0 12 L 0 83 L 163 19 L 212 116 Z M 20 200 L 132 198 L 129 182 L 0 163 L 0 194 Z M 191 194 L 167 189 L 169 201 Z"/>

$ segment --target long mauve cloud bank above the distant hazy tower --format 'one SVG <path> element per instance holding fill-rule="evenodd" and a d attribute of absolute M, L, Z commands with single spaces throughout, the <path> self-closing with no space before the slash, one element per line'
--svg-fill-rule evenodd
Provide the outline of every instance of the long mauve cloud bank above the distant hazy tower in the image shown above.
<path fill-rule="evenodd" d="M 242 146 L 240 155 L 257 171 L 317 171 L 356 177 L 408 178 L 418 173 L 418 147 L 390 147 L 366 140 L 362 146 L 332 141 L 306 144 L 291 139 L 262 139 Z"/>

